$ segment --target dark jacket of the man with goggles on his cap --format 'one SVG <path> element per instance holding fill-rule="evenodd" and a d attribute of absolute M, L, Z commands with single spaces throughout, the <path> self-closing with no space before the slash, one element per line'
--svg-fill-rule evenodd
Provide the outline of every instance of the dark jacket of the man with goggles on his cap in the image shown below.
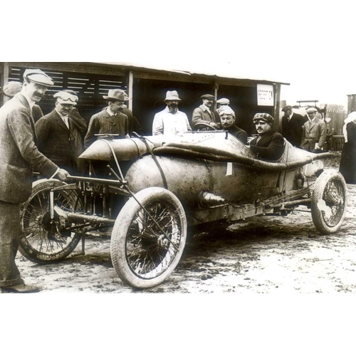
<path fill-rule="evenodd" d="M 86 131 L 87 124 L 80 115 L 69 115 L 68 123 L 69 129 L 56 110 L 41 117 L 35 125 L 38 150 L 58 167 L 76 174 L 77 158 L 83 152 L 80 133 Z"/>

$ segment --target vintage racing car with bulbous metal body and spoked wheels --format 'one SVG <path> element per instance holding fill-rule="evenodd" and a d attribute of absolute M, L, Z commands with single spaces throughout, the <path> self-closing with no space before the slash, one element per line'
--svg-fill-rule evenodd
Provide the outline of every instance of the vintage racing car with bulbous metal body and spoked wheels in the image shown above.
<path fill-rule="evenodd" d="M 19 249 L 51 263 L 69 256 L 88 231 L 110 231 L 118 276 L 150 288 L 174 271 L 190 226 L 286 215 L 304 205 L 316 229 L 330 234 L 345 218 L 347 187 L 335 169 L 315 177 L 315 163 L 329 155 L 285 140 L 281 159 L 267 162 L 225 131 L 98 137 L 80 156 L 85 177 L 34 182 Z"/>

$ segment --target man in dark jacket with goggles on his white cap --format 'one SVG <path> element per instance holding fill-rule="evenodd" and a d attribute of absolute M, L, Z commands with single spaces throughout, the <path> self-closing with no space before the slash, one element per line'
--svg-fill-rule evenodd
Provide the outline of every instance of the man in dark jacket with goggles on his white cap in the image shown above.
<path fill-rule="evenodd" d="M 87 124 L 80 115 L 70 115 L 78 102 L 72 91 L 60 91 L 53 95 L 56 108 L 36 122 L 38 150 L 66 169 L 78 174 L 77 158 L 83 152 L 80 134 L 86 132 Z"/>

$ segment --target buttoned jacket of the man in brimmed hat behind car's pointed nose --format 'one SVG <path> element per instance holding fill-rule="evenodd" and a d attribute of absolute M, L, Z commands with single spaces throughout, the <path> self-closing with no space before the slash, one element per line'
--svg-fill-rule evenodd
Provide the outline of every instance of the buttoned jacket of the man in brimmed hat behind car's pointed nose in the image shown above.
<path fill-rule="evenodd" d="M 125 138 L 129 132 L 128 119 L 121 112 L 110 116 L 107 110 L 98 112 L 90 117 L 88 132 L 85 135 L 85 148 L 89 147 L 95 140 L 95 134 L 117 134 L 118 138 Z"/>

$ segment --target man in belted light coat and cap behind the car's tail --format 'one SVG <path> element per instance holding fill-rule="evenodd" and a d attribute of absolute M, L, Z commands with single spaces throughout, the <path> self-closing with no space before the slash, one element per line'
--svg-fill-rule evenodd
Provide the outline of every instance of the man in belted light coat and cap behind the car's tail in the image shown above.
<path fill-rule="evenodd" d="M 326 124 L 323 120 L 315 117 L 317 109 L 308 108 L 306 112 L 308 121 L 303 125 L 300 148 L 309 152 L 320 152 L 325 145 Z"/>

